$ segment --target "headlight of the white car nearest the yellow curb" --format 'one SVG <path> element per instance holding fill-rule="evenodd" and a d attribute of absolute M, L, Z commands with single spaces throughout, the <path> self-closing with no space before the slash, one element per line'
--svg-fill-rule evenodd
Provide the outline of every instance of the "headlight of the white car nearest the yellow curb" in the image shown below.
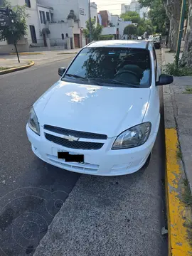
<path fill-rule="evenodd" d="M 141 146 L 149 138 L 150 132 L 150 122 L 138 124 L 135 127 L 122 132 L 122 134 L 119 134 L 112 145 L 112 149 L 129 149 L 135 146 Z"/>

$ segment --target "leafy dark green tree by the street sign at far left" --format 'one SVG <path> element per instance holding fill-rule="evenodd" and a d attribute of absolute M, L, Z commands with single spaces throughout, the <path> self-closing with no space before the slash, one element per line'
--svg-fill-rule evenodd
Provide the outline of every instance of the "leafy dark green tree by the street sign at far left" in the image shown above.
<path fill-rule="evenodd" d="M 11 4 L 8 1 L 3 1 L 1 5 L 3 7 L 8 6 L 11 9 Z M 26 14 L 26 6 L 16 6 L 12 8 L 11 26 L 4 27 L 0 29 L 0 41 L 7 40 L 9 43 L 16 43 L 25 36 L 27 25 L 26 25 L 26 18 L 28 18 L 28 14 Z"/>

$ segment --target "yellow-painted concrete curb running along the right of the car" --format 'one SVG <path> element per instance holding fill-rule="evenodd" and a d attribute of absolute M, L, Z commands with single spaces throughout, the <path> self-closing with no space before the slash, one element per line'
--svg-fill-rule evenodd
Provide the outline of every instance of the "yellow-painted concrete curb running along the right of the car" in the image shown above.
<path fill-rule="evenodd" d="M 161 62 L 165 64 L 164 48 L 161 48 Z M 190 210 L 182 202 L 183 179 L 186 178 L 181 159 L 178 159 L 178 135 L 174 118 L 169 85 L 164 86 L 164 122 L 166 144 L 166 208 L 169 233 L 169 256 L 190 256 L 192 248 L 187 239 L 184 225 L 190 218 Z"/>

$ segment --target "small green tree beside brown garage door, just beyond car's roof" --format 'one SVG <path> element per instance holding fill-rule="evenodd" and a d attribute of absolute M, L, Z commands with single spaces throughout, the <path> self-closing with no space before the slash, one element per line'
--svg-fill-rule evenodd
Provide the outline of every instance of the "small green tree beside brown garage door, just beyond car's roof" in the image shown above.
<path fill-rule="evenodd" d="M 85 33 L 86 38 L 90 38 L 90 22 L 86 21 L 86 28 L 83 30 L 83 33 Z M 91 35 L 92 40 L 97 41 L 100 38 L 100 35 L 102 33 L 102 26 L 100 23 L 97 23 L 97 27 L 95 27 L 95 19 L 91 20 Z"/>

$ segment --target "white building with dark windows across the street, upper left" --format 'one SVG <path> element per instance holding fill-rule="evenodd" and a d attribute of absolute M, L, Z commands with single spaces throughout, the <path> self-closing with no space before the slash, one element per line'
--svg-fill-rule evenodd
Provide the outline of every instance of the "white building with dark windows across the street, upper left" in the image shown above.
<path fill-rule="evenodd" d="M 24 4 L 27 6 L 28 30 L 27 36 L 21 40 L 22 44 L 28 44 L 31 48 L 40 46 L 81 48 L 86 45 L 82 31 L 89 18 L 88 0 L 11 0 L 10 2 L 13 7 Z M 97 5 L 92 3 L 93 18 L 95 15 L 97 17 Z M 95 20 L 97 21 L 97 18 Z M 19 44 L 21 42 L 18 42 Z"/>

